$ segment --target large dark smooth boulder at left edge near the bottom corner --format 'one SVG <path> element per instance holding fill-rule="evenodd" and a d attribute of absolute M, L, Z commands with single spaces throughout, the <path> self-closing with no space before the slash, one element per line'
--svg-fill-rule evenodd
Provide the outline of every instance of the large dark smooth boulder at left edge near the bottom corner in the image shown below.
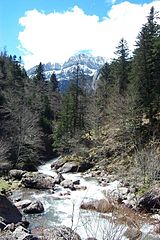
<path fill-rule="evenodd" d="M 0 217 L 6 224 L 18 223 L 22 220 L 22 214 L 18 208 L 2 194 L 0 194 Z"/>

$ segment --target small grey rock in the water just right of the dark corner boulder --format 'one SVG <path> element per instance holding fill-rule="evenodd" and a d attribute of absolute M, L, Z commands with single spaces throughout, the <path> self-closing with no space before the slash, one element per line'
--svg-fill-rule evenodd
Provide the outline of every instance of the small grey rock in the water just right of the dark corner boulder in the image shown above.
<path fill-rule="evenodd" d="M 42 213 L 44 212 L 44 207 L 40 201 L 34 201 L 28 207 L 24 208 L 23 212 L 27 214 Z"/>

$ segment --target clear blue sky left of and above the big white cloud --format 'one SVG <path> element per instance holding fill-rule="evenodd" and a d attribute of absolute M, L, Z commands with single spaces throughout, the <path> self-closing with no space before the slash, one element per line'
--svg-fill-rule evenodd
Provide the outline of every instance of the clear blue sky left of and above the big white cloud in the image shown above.
<path fill-rule="evenodd" d="M 103 18 L 110 4 L 105 0 L 0 0 L 0 48 L 6 46 L 11 54 L 20 54 L 17 45 L 18 34 L 22 28 L 18 21 L 26 11 L 37 9 L 45 13 L 64 12 L 75 5 L 88 14 L 96 14 Z"/>

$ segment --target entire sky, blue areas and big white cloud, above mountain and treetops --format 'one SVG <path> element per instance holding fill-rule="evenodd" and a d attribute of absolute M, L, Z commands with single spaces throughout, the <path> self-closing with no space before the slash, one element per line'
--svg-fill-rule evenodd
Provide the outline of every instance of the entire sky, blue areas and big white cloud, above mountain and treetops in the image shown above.
<path fill-rule="evenodd" d="M 0 0 L 0 49 L 27 68 L 82 50 L 110 58 L 121 37 L 133 47 L 151 5 L 160 11 L 160 0 Z"/>

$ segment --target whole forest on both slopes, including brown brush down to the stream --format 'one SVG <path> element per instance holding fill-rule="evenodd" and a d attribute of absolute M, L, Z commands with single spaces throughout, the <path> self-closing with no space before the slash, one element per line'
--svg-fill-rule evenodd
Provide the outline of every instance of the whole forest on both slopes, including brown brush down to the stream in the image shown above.
<path fill-rule="evenodd" d="M 79 63 L 67 91 L 43 64 L 28 78 L 21 59 L 0 56 L 1 168 L 33 169 L 55 154 L 73 154 L 104 168 L 136 165 L 144 179 L 159 175 L 160 25 L 152 7 L 134 52 L 124 38 L 88 91 Z M 107 47 L 107 46 L 106 46 Z M 67 155 L 68 159 L 72 158 Z M 116 162 L 116 164 L 115 164 Z M 119 166 L 119 165 L 118 165 Z M 151 166 L 154 166 L 151 172 Z"/>

